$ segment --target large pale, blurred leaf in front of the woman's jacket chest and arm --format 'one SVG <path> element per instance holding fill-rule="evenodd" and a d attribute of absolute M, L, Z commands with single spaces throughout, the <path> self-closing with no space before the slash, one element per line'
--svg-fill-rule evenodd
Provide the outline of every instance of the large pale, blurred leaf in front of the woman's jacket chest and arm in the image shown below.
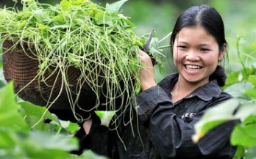
<path fill-rule="evenodd" d="M 193 141 L 199 141 L 202 136 L 211 130 L 213 127 L 221 125 L 229 120 L 237 119 L 233 116 L 235 109 L 239 106 L 239 101 L 236 99 L 226 100 L 223 103 L 209 108 L 202 119 L 195 124 L 195 134 L 193 135 Z"/>

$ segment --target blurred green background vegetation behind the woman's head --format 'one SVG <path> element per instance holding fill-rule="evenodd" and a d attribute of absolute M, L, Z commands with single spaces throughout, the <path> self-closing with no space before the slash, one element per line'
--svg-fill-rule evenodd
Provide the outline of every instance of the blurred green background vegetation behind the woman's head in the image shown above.
<path fill-rule="evenodd" d="M 40 3 L 58 4 L 60 0 L 39 0 Z M 113 0 L 91 0 L 105 6 Z M 138 36 L 150 32 L 153 28 L 159 39 L 162 39 L 173 29 L 177 16 L 193 5 L 208 4 L 215 7 L 224 20 L 226 38 L 228 42 L 229 62 L 225 65 L 227 73 L 241 70 L 238 62 L 238 50 L 241 52 L 241 59 L 247 65 L 256 67 L 256 21 L 255 1 L 250 0 L 129 0 L 123 7 L 121 13 L 135 23 L 135 33 Z M 0 0 L 0 7 L 17 7 L 21 9 L 21 1 L 15 4 L 11 0 Z M 238 48 L 238 37 L 239 40 Z M 167 45 L 169 37 L 160 45 Z M 160 80 L 169 73 L 174 72 L 172 66 L 171 52 L 169 49 L 163 51 L 166 54 L 166 70 L 163 73 L 157 71 L 157 80 Z M 157 68 L 157 67 L 156 67 Z"/>

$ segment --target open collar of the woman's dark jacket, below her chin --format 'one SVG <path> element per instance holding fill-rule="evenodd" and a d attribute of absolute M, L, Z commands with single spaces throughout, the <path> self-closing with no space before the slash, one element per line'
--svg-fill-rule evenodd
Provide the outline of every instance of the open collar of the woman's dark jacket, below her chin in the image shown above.
<path fill-rule="evenodd" d="M 169 95 L 174 84 L 176 84 L 178 77 L 179 73 L 168 75 L 166 78 L 159 82 L 158 86 L 165 90 L 167 95 Z M 202 100 L 209 101 L 212 100 L 213 97 L 219 97 L 220 95 L 221 88 L 218 86 L 217 80 L 214 79 L 204 86 L 200 86 L 199 88 L 193 90 L 193 92 L 191 92 L 191 94 L 185 98 L 188 99 L 197 96 Z"/>

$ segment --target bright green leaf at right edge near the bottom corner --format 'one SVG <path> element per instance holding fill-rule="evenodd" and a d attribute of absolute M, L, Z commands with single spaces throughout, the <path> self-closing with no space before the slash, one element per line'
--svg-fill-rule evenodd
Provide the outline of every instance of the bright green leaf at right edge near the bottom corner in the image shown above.
<path fill-rule="evenodd" d="M 236 125 L 232 131 L 231 144 L 245 147 L 256 146 L 256 122 L 249 125 Z"/>

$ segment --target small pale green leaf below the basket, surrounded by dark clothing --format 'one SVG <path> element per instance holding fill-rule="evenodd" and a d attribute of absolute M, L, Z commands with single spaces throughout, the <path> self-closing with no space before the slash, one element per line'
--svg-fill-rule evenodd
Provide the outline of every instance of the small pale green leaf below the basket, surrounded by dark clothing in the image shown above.
<path fill-rule="evenodd" d="M 95 111 L 96 115 L 101 120 L 101 125 L 108 127 L 110 125 L 110 121 L 115 115 L 116 111 Z"/>

